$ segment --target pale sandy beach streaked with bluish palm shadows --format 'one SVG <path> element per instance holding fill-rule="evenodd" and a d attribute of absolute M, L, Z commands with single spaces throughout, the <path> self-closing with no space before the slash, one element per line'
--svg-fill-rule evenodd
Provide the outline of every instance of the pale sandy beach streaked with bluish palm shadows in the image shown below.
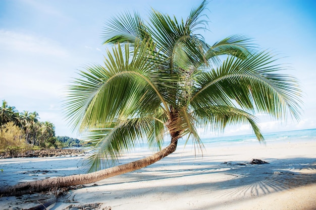
<path fill-rule="evenodd" d="M 126 154 L 120 163 L 148 155 Z M 78 174 L 81 158 L 3 159 L 0 183 Z M 246 164 L 252 159 L 269 164 Z M 203 156 L 178 147 L 153 165 L 71 190 L 47 209 L 88 203 L 113 210 L 316 209 L 316 142 L 210 144 Z M 23 205 L 16 197 L 0 198 L 0 209 Z"/>

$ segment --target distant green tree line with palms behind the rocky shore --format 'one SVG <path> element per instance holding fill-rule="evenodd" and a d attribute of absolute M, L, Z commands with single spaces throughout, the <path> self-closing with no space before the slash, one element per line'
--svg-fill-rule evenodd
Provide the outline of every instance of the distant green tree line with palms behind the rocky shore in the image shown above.
<path fill-rule="evenodd" d="M 68 136 L 55 136 L 55 125 L 39 121 L 39 114 L 19 112 L 3 100 L 0 107 L 0 152 L 21 153 L 31 149 L 80 147 L 82 141 Z"/>

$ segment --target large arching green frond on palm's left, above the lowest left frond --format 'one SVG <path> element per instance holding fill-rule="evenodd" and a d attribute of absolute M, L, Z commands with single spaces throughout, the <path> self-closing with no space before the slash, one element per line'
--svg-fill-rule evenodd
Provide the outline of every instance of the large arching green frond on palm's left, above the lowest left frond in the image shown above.
<path fill-rule="evenodd" d="M 66 117 L 74 127 L 84 131 L 100 122 L 150 112 L 161 104 L 168 113 L 167 102 L 161 94 L 167 87 L 160 83 L 167 76 L 159 70 L 161 62 L 157 54 L 152 55 L 146 46 L 141 43 L 130 52 L 129 45 L 125 44 L 123 52 L 121 45 L 117 45 L 113 52 L 108 52 L 105 67 L 91 66 L 80 72 L 81 78 L 69 87 L 65 102 Z"/>

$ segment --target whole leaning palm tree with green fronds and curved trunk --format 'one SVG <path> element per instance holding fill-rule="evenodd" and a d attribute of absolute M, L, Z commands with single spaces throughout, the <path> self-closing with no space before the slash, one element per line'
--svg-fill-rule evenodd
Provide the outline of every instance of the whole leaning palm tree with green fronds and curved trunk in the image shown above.
<path fill-rule="evenodd" d="M 198 34 L 207 25 L 201 19 L 205 7 L 203 1 L 181 21 L 155 10 L 148 22 L 137 13 L 111 19 L 103 35 L 113 47 L 104 65 L 81 71 L 65 104 L 69 122 L 91 143 L 86 166 L 92 173 L 22 183 L 0 193 L 92 183 L 137 170 L 173 153 L 179 141 L 192 139 L 203 150 L 198 127 L 248 123 L 264 142 L 255 113 L 298 119 L 296 79 L 280 74 L 284 68 L 274 55 L 244 36 L 207 44 Z M 142 141 L 159 152 L 108 168 Z"/>

